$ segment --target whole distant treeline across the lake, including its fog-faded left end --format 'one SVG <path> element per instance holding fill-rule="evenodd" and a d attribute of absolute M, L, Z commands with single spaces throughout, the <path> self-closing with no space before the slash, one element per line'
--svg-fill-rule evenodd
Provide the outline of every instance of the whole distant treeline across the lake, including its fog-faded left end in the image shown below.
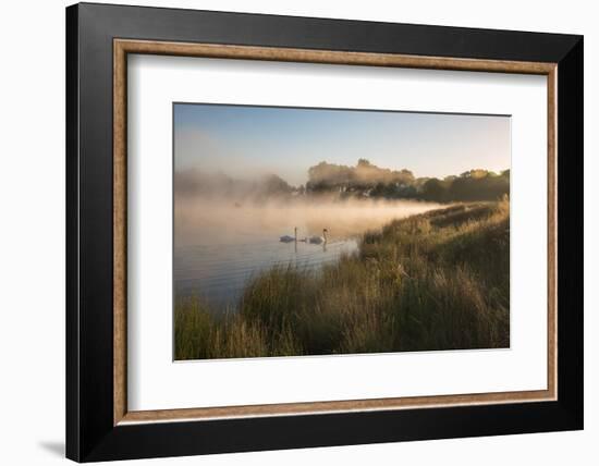
<path fill-rule="evenodd" d="M 494 173 L 477 169 L 440 180 L 415 177 L 409 170 L 382 169 L 366 159 L 359 159 L 355 167 L 327 162 L 310 167 L 306 185 L 296 187 L 276 174 L 247 181 L 232 179 L 223 173 L 208 174 L 190 169 L 175 173 L 174 189 L 178 196 L 199 195 L 236 200 L 310 195 L 436 203 L 498 200 L 510 194 L 510 170 Z"/>

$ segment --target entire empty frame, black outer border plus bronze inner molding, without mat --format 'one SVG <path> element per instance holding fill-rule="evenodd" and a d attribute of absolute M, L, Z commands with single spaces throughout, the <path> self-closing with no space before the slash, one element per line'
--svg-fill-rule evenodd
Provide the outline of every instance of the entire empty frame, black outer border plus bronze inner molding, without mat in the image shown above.
<path fill-rule="evenodd" d="M 547 390 L 129 410 L 127 53 L 546 75 Z M 583 427 L 582 37 L 84 3 L 66 10 L 66 58 L 68 457 Z"/>

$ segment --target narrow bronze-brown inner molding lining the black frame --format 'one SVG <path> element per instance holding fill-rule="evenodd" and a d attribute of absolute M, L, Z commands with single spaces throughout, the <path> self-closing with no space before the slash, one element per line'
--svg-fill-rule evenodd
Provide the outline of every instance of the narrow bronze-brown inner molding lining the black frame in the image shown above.
<path fill-rule="evenodd" d="M 291 61 L 366 66 L 538 74 L 547 76 L 548 101 L 548 351 L 547 390 L 391 397 L 333 402 L 222 406 L 130 412 L 126 400 L 126 93 L 127 54 L 184 56 L 237 60 Z M 557 63 L 419 57 L 213 44 L 113 40 L 113 424 L 321 414 L 333 412 L 427 408 L 457 405 L 525 403 L 557 400 Z"/>

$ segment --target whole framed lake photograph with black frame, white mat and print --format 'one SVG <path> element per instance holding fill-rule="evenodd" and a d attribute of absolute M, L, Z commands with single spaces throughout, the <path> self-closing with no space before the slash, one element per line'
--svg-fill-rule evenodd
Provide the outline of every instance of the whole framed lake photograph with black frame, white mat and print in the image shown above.
<path fill-rule="evenodd" d="M 66 9 L 66 455 L 583 428 L 583 38 Z"/>

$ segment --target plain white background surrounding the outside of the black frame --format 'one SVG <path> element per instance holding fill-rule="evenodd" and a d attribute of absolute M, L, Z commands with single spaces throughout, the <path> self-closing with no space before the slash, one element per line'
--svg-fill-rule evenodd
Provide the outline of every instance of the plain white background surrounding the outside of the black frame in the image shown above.
<path fill-rule="evenodd" d="M 126 3 L 112 1 L 113 3 Z M 597 464 L 599 453 L 598 15 L 594 2 L 160 0 L 137 4 L 585 35 L 585 370 L 583 432 L 151 461 L 172 465 Z M 64 7 L 0 7 L 0 458 L 64 462 Z M 149 461 L 136 464 L 150 464 Z"/>

